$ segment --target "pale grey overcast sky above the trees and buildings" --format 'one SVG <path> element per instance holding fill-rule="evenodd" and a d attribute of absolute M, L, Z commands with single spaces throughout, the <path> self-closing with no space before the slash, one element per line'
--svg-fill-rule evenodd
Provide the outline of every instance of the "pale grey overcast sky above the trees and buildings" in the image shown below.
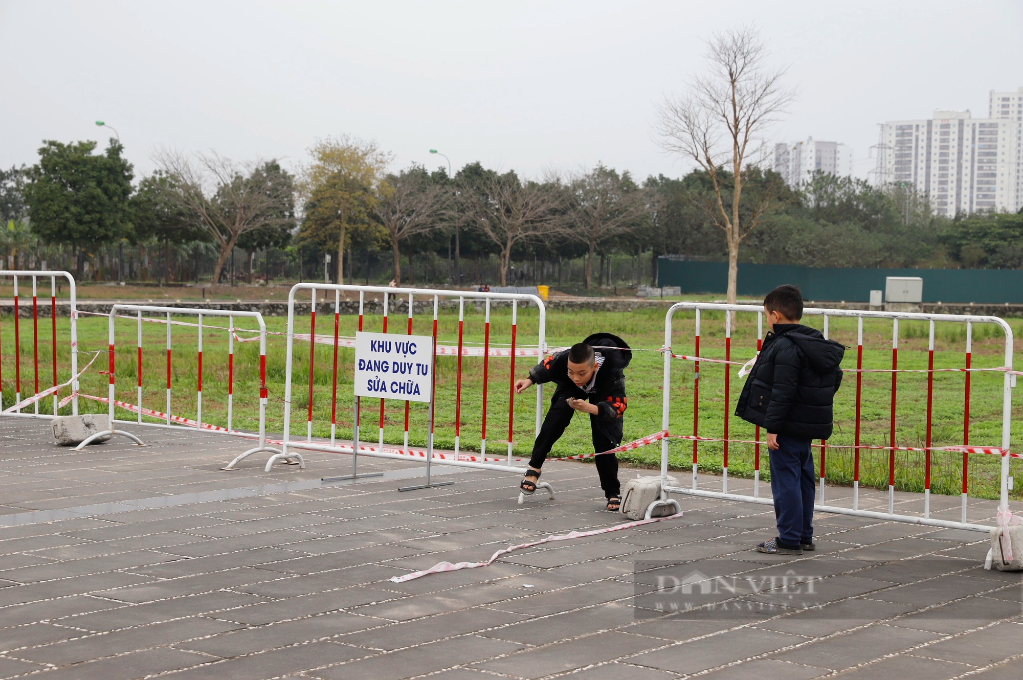
<path fill-rule="evenodd" d="M 410 163 L 537 176 L 596 163 L 679 176 L 656 105 L 752 22 L 799 100 L 775 140 L 850 144 L 935 108 L 986 117 L 1023 85 L 1023 2 L 55 2 L 0 0 L 0 167 L 43 139 L 117 128 L 136 173 L 155 148 L 296 167 L 317 137 Z"/>

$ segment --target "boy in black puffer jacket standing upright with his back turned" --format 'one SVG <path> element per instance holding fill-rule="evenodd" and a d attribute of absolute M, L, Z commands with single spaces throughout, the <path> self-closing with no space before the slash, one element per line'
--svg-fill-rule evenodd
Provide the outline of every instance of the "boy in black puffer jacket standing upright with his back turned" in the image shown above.
<path fill-rule="evenodd" d="M 770 489 L 777 538 L 760 552 L 801 555 L 813 550 L 813 498 L 816 473 L 810 444 L 832 434 L 832 404 L 842 384 L 845 348 L 819 330 L 798 323 L 803 297 L 794 285 L 780 285 L 764 298 L 770 332 L 746 378 L 736 415 L 767 432 Z"/>

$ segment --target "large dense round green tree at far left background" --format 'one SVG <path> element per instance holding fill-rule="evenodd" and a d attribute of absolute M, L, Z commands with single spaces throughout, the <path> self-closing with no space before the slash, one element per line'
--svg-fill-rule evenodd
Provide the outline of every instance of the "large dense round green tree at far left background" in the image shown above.
<path fill-rule="evenodd" d="M 83 246 L 109 242 L 130 229 L 132 165 L 114 139 L 105 153 L 94 155 L 95 148 L 93 141 L 48 140 L 39 149 L 39 163 L 26 173 L 33 230 L 45 242 L 77 247 L 79 276 Z"/>

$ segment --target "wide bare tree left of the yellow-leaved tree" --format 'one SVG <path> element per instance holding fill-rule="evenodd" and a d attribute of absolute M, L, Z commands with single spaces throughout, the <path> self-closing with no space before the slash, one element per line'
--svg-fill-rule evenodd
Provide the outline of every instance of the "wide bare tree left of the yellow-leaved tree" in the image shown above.
<path fill-rule="evenodd" d="M 220 283 L 224 263 L 250 231 L 295 223 L 292 178 L 275 162 L 236 164 L 216 152 L 194 158 L 162 149 L 154 158 L 174 178 L 170 198 L 191 214 L 217 243 L 213 285 Z"/>

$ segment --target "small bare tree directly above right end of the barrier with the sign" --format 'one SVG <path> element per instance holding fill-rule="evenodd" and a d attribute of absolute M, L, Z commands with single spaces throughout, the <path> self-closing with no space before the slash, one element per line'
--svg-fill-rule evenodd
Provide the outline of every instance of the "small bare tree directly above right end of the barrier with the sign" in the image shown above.
<path fill-rule="evenodd" d="M 471 224 L 497 246 L 501 285 L 507 285 L 511 251 L 555 228 L 565 196 L 563 187 L 549 182 L 520 182 L 515 172 L 486 171 L 463 183 L 458 200 Z"/>

